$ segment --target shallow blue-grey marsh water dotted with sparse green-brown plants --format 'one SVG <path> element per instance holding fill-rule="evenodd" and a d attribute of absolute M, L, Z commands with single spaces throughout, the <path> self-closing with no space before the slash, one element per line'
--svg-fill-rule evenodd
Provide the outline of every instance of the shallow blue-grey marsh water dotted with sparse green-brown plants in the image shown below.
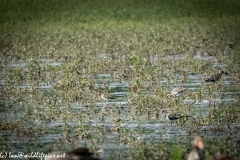
<path fill-rule="evenodd" d="M 108 56 L 103 53 L 99 54 L 98 58 L 102 61 L 108 60 Z M 164 61 L 179 63 L 186 58 L 188 57 L 181 55 L 150 57 L 149 63 Z M 192 57 L 193 60 L 211 62 L 212 70 L 218 72 L 225 64 L 215 61 L 216 58 L 202 57 L 197 52 Z M 124 56 L 122 59 L 124 61 Z M 65 63 L 62 60 L 51 59 L 37 61 L 40 68 L 45 65 L 54 68 Z M 12 62 L 4 67 L 24 70 L 29 63 L 30 61 Z M 128 67 L 134 69 L 135 66 Z M 1 121 L 21 127 L 2 128 L 1 143 L 7 143 L 9 151 L 13 153 L 34 150 L 47 153 L 52 148 L 70 150 L 77 146 L 88 146 L 101 150 L 99 154 L 104 159 L 110 155 L 116 158 L 120 152 L 128 155 L 129 147 L 133 143 L 160 141 L 189 143 L 198 133 L 204 134 L 205 138 L 214 136 L 219 138 L 231 134 L 233 128 L 240 127 L 239 123 L 225 122 L 227 115 L 218 117 L 218 121 L 204 122 L 214 110 L 239 105 L 240 86 L 234 80 L 234 73 L 223 75 L 219 82 L 206 83 L 204 77 L 210 76 L 213 72 L 204 72 L 208 75 L 193 73 L 187 70 L 187 66 L 182 70 L 184 73 L 165 70 L 159 79 L 143 82 L 139 92 L 129 91 L 134 81 L 122 78 L 121 71 L 109 70 L 94 75 L 83 73 L 81 78 L 91 82 L 92 90 L 95 92 L 85 90 L 81 93 L 86 94 L 81 94 L 76 99 L 70 97 L 70 93 L 66 95 L 67 98 L 54 94 L 58 91 L 57 87 L 61 87 L 60 79 L 48 82 L 36 79 L 35 86 L 33 83 L 22 83 L 16 88 L 15 85 L 12 87 L 13 90 L 28 92 L 35 90 L 24 99 L 16 99 L 16 96 L 12 95 L 4 97 L 2 93 L 1 103 L 7 107 L 1 108 Z M 10 87 L 4 79 L 1 79 L 0 83 L 2 88 Z M 53 89 L 55 84 L 59 86 Z M 150 89 L 148 86 L 151 86 Z M 157 95 L 159 86 L 162 89 L 160 96 Z M 188 90 L 180 96 L 167 96 L 175 87 L 184 87 Z M 106 90 L 115 99 L 107 101 L 101 99 L 100 94 Z M 183 113 L 192 115 L 193 118 L 170 122 L 162 112 L 164 109 L 169 112 L 183 109 Z M 213 129 L 216 126 L 221 129 Z"/>

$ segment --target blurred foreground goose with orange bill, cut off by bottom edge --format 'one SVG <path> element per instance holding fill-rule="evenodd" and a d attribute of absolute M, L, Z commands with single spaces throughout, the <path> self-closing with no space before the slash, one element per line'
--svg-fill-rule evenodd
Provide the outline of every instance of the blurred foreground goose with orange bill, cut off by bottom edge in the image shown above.
<path fill-rule="evenodd" d="M 193 140 L 193 150 L 189 153 L 187 160 L 240 160 L 224 154 L 214 154 L 206 158 L 202 138 L 196 136 Z"/>

